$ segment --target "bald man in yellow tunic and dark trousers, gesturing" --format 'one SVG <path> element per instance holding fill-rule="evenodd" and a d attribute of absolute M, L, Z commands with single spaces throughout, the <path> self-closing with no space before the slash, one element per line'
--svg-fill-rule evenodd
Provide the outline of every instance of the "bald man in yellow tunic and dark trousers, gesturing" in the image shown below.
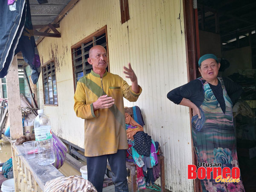
<path fill-rule="evenodd" d="M 129 86 L 120 76 L 108 73 L 108 55 L 100 45 L 89 51 L 91 73 L 77 82 L 74 96 L 76 116 L 84 119 L 84 155 L 88 180 L 102 192 L 107 160 L 113 172 L 115 191 L 128 192 L 125 150 L 128 148 L 123 97 L 137 101 L 142 91 L 129 63 L 124 67 Z"/>

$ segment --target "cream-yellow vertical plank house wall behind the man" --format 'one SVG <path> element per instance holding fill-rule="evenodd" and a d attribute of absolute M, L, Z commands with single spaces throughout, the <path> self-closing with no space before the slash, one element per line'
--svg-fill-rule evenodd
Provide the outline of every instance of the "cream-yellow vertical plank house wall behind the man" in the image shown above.
<path fill-rule="evenodd" d="M 107 25 L 111 73 L 125 79 L 122 67 L 130 61 L 137 74 L 143 92 L 137 102 L 125 100 L 125 105 L 141 108 L 145 132 L 160 142 L 166 188 L 192 192 L 192 180 L 186 178 L 192 164 L 189 109 L 166 98 L 169 90 L 187 82 L 183 5 L 180 0 L 129 0 L 129 12 L 130 20 L 121 24 L 119 0 L 76 3 L 60 22 L 61 38 L 44 38 L 38 45 L 42 63 L 55 57 L 58 91 L 58 106 L 43 105 L 40 77 L 40 107 L 59 137 L 84 147 L 84 121 L 73 111 L 71 46 Z"/>

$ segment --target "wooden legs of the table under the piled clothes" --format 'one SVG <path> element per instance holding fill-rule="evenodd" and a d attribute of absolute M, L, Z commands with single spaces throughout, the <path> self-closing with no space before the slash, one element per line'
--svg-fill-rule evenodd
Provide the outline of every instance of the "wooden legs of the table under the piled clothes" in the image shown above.
<path fill-rule="evenodd" d="M 165 191 L 165 177 L 164 177 L 164 156 L 157 157 L 158 163 L 160 163 L 160 179 L 161 179 L 161 192 Z M 136 165 L 133 162 L 126 161 L 127 169 L 130 169 L 131 172 L 131 182 L 132 184 L 132 192 L 137 191 L 136 186 Z"/>

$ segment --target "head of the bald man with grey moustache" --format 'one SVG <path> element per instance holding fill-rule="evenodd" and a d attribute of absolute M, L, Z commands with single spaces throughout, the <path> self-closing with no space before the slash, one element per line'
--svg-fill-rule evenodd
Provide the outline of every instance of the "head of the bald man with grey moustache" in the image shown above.
<path fill-rule="evenodd" d="M 93 66 L 93 71 L 105 70 L 108 67 L 108 55 L 106 49 L 101 46 L 93 47 L 90 53 L 90 58 L 88 58 L 88 63 Z"/>

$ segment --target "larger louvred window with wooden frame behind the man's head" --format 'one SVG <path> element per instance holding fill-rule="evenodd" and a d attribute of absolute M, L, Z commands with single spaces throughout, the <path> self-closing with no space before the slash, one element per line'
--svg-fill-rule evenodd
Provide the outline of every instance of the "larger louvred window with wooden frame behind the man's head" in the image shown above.
<path fill-rule="evenodd" d="M 71 47 L 75 90 L 77 81 L 87 73 L 90 73 L 93 68 L 93 66 L 87 62 L 90 48 L 95 45 L 101 45 L 108 53 L 107 39 L 107 27 L 105 26 Z M 109 66 L 107 67 L 107 71 L 109 71 Z"/>

